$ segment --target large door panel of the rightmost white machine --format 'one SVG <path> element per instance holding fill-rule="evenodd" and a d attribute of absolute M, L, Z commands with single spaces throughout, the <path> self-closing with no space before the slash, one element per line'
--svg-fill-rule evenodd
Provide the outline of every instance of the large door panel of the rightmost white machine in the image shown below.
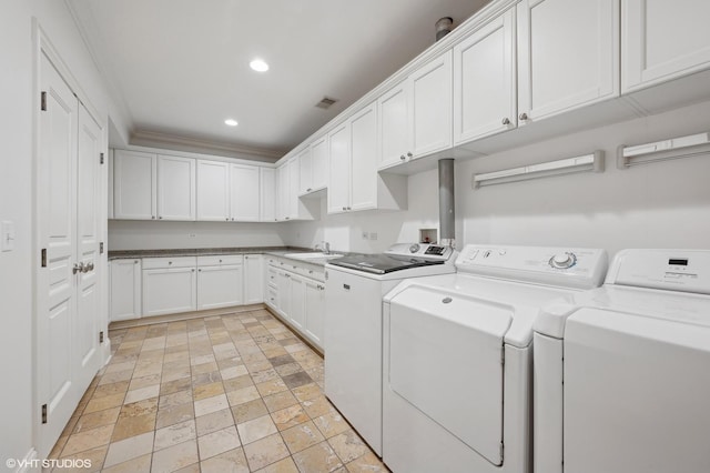
<path fill-rule="evenodd" d="M 564 376 L 566 472 L 710 472 L 710 328 L 584 309 Z"/>

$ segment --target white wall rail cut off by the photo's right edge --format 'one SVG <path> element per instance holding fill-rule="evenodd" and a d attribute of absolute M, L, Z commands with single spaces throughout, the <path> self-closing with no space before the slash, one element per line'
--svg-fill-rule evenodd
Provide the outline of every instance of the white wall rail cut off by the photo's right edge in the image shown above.
<path fill-rule="evenodd" d="M 617 168 L 629 169 L 632 165 L 656 161 L 689 158 L 710 153 L 710 132 L 655 141 L 652 143 L 617 149 Z"/>

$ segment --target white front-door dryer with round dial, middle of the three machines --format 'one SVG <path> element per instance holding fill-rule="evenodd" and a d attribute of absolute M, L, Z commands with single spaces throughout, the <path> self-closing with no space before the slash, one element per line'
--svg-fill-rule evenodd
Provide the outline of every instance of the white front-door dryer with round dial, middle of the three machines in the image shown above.
<path fill-rule="evenodd" d="M 467 245 L 384 299 L 383 460 L 395 473 L 531 471 L 532 323 L 601 284 L 604 250 Z"/>

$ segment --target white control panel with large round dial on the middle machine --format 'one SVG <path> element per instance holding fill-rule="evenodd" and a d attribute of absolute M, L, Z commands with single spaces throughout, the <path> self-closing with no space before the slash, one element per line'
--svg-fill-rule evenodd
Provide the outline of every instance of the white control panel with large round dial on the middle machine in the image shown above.
<path fill-rule="evenodd" d="M 589 248 L 466 245 L 460 272 L 538 284 L 590 289 L 601 285 L 607 252 Z"/>

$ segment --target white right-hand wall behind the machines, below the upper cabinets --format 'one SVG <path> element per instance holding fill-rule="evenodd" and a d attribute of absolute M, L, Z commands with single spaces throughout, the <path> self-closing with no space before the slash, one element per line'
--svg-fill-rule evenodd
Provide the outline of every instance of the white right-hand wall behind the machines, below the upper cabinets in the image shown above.
<path fill-rule="evenodd" d="M 456 240 L 604 248 L 710 248 L 710 155 L 628 170 L 616 168 L 619 144 L 710 130 L 710 102 L 538 142 L 469 161 L 456 161 Z M 580 173 L 471 189 L 474 173 L 606 152 L 606 172 Z M 284 224 L 287 244 L 379 252 L 416 241 L 419 228 L 438 228 L 437 172 L 409 178 L 404 212 L 352 212 Z M 323 205 L 325 205 L 323 203 Z M 362 240 L 363 231 L 377 241 Z"/>

